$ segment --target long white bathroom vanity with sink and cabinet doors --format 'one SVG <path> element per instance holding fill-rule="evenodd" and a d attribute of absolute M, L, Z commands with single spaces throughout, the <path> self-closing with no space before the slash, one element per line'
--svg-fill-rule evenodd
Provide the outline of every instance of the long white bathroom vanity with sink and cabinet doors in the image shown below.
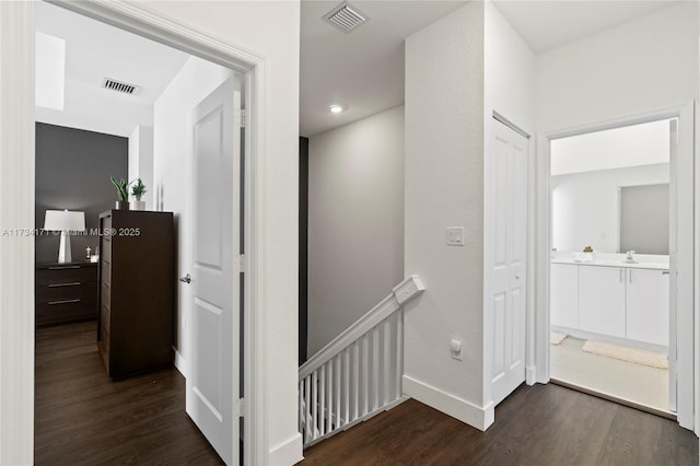
<path fill-rule="evenodd" d="M 628 264 L 622 255 L 610 256 L 584 263 L 551 260 L 551 326 L 581 338 L 668 347 L 667 258 Z"/>

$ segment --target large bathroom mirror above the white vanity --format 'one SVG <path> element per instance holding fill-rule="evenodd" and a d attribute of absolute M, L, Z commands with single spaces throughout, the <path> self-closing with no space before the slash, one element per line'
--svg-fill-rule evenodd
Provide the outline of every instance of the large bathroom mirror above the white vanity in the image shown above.
<path fill-rule="evenodd" d="M 552 247 L 668 254 L 669 120 L 551 141 Z"/>

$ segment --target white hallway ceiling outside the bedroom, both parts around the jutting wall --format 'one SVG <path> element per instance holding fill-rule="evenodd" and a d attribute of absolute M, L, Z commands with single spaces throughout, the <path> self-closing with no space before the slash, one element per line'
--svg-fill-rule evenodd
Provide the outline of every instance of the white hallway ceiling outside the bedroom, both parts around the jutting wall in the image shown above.
<path fill-rule="evenodd" d="M 370 21 L 345 34 L 323 21 L 338 1 L 302 0 L 300 133 L 314 136 L 404 103 L 404 38 L 465 1 L 352 1 Z M 536 53 L 587 37 L 677 0 L 494 0 Z M 347 107 L 331 114 L 328 106 Z"/>

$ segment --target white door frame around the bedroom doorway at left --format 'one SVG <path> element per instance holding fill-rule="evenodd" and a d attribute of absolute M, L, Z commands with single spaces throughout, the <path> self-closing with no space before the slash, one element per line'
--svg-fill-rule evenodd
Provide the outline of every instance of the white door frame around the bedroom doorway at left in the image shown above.
<path fill-rule="evenodd" d="M 79 14 L 213 61 L 245 75 L 244 432 L 245 464 L 268 463 L 261 258 L 269 245 L 262 219 L 268 127 L 262 108 L 266 60 L 234 44 L 126 2 L 48 0 Z M 31 58 L 30 58 L 31 57 Z M 0 2 L 0 229 L 34 228 L 34 4 Z M 30 59 L 27 59 L 30 58 Z M 34 456 L 34 238 L 0 246 L 0 464 L 31 464 Z M 9 312 L 23 310 L 23 312 Z"/>

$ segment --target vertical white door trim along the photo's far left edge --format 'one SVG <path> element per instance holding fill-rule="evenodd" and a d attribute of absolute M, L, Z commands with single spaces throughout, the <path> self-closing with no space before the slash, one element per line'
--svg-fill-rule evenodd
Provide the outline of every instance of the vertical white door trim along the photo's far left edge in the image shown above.
<path fill-rule="evenodd" d="M 0 2 L 0 229 L 34 229 L 34 4 Z M 0 464 L 34 455 L 34 237 L 0 236 Z"/>

